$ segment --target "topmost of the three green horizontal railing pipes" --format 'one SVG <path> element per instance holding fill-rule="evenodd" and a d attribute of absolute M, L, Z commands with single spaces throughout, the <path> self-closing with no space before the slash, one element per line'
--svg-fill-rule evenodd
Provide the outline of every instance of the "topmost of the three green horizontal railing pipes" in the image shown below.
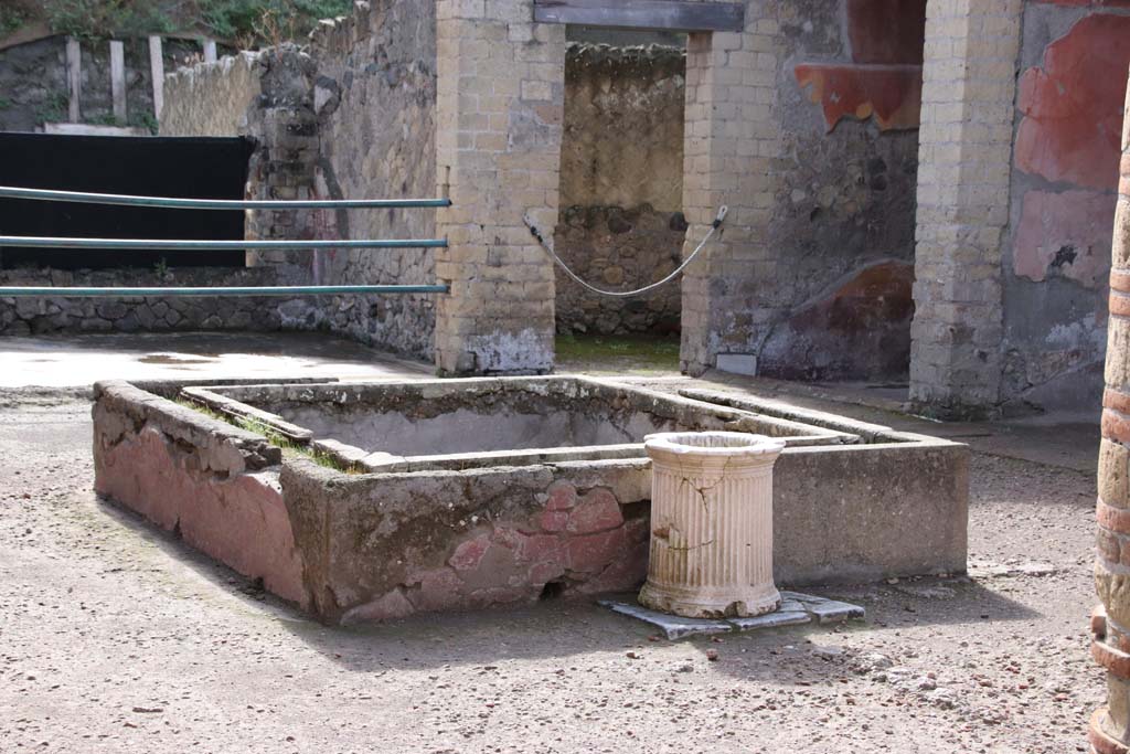
<path fill-rule="evenodd" d="M 72 201 L 85 205 L 162 207 L 165 209 L 410 209 L 450 207 L 451 199 L 182 199 L 179 197 L 134 197 L 123 193 L 87 193 L 0 187 L 0 199 Z"/>

